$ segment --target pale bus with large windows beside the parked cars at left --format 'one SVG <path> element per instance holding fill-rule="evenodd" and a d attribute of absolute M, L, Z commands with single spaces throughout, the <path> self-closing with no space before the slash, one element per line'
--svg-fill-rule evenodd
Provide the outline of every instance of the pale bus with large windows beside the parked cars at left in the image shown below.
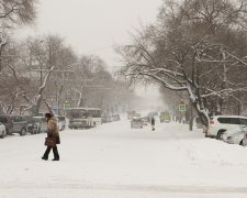
<path fill-rule="evenodd" d="M 101 109 L 70 108 L 67 110 L 69 129 L 90 129 L 101 124 Z"/>

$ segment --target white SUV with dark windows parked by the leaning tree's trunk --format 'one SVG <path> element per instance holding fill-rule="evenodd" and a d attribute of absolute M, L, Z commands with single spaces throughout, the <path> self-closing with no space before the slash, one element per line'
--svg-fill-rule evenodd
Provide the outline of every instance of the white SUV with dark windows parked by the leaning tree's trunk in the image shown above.
<path fill-rule="evenodd" d="M 240 116 L 215 116 L 210 120 L 206 136 L 216 138 L 218 140 L 229 136 L 227 131 L 247 131 L 247 118 Z"/>

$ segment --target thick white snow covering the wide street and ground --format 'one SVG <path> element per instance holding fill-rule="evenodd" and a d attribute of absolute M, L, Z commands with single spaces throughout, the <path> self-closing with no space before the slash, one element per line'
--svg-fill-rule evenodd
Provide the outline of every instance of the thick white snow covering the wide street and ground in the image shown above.
<path fill-rule="evenodd" d="M 188 125 L 130 121 L 60 132 L 60 161 L 42 161 L 45 134 L 0 140 L 0 198 L 247 197 L 247 147 Z"/>

